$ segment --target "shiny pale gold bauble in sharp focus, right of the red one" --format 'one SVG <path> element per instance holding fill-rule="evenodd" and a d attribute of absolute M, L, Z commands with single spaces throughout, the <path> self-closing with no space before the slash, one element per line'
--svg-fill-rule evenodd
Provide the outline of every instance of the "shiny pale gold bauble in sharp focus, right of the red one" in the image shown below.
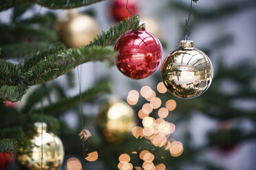
<path fill-rule="evenodd" d="M 198 97 L 213 80 L 213 65 L 206 54 L 195 49 L 192 40 L 180 41 L 180 48 L 171 52 L 162 64 L 162 81 L 180 98 Z"/>

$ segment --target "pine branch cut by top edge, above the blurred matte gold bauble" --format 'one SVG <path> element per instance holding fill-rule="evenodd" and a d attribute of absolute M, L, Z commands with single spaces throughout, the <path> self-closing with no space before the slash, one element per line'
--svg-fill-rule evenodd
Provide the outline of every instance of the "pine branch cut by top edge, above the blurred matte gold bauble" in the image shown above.
<path fill-rule="evenodd" d="M 71 9 L 78 8 L 103 0 L 37 0 L 36 3 L 50 9 Z"/>

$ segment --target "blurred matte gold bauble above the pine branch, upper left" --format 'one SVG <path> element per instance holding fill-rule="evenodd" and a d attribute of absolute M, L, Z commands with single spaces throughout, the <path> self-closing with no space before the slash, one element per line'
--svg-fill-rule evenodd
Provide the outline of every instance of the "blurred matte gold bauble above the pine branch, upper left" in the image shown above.
<path fill-rule="evenodd" d="M 98 23 L 94 18 L 74 11 L 59 18 L 55 27 L 61 42 L 69 48 L 88 45 L 100 32 Z"/>

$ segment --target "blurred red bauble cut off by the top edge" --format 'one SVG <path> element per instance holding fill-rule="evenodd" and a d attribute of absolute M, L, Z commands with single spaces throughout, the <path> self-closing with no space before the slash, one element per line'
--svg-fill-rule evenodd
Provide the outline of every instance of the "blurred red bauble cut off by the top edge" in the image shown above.
<path fill-rule="evenodd" d="M 110 14 L 118 22 L 127 19 L 128 16 L 132 17 L 129 11 L 126 9 L 126 3 L 127 0 L 114 0 L 114 2 L 110 5 Z M 136 14 L 136 0 L 129 0 L 128 8 L 133 14 Z"/>

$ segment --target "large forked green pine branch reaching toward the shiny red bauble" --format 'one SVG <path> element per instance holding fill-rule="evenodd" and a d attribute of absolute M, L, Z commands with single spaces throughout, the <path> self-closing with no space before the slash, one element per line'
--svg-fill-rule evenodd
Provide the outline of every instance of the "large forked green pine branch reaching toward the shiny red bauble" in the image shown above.
<path fill-rule="evenodd" d="M 85 62 L 103 61 L 109 65 L 115 64 L 117 53 L 105 47 L 131 29 L 140 29 L 137 16 L 114 25 L 85 47 L 65 49 L 64 45 L 56 43 L 43 51 L 28 55 L 21 64 L 0 60 L 0 73 L 3 75 L 0 77 L 0 101 L 19 101 L 29 86 L 54 80 Z"/>

